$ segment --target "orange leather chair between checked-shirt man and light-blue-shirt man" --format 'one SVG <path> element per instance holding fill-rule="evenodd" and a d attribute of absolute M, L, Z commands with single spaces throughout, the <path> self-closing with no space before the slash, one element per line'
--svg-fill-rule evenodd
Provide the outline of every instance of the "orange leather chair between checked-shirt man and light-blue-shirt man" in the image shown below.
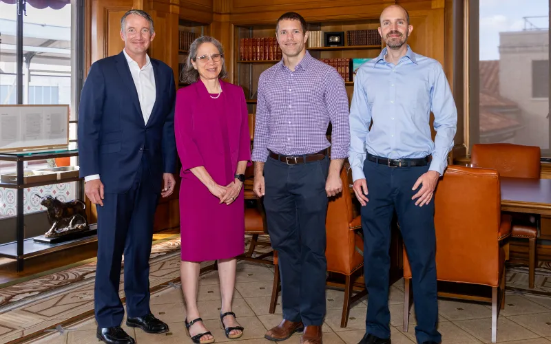
<path fill-rule="evenodd" d="M 340 174 L 342 180 L 342 193 L 329 200 L 326 216 L 327 244 L 325 257 L 327 259 L 327 270 L 344 275 L 345 282 L 336 283 L 328 281 L 328 286 L 344 288 L 344 304 L 342 305 L 342 316 L 340 327 L 346 327 L 350 306 L 353 302 L 367 294 L 365 288 L 361 288 L 354 296 L 353 286 L 357 277 L 362 275 L 364 266 L 364 241 L 356 230 L 362 230 L 360 216 L 354 217 L 352 197 L 349 191 L 349 175 L 345 168 Z M 274 255 L 277 261 L 277 255 Z M 278 299 L 280 276 L 277 263 L 275 263 L 274 284 L 271 295 L 269 312 L 275 312 L 275 301 Z"/>

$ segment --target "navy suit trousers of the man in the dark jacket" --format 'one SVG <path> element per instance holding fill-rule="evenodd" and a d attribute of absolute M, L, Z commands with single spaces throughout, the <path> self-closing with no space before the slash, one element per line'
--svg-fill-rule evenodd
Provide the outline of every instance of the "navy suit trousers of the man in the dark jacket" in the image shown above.
<path fill-rule="evenodd" d="M 100 176 L 101 177 L 101 176 Z M 149 310 L 149 255 L 158 191 L 152 190 L 149 166 L 143 158 L 127 193 L 105 191 L 98 211 L 98 261 L 94 311 L 99 327 L 121 325 L 123 303 L 118 296 L 124 254 L 124 290 L 127 316 L 144 316 Z"/>

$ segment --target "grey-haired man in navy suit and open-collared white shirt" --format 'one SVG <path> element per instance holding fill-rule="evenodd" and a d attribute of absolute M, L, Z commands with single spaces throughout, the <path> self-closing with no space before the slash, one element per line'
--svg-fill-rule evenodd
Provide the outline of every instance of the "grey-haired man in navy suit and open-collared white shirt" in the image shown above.
<path fill-rule="evenodd" d="M 98 212 L 96 335 L 105 343 L 135 343 L 121 329 L 123 254 L 126 324 L 147 333 L 169 330 L 149 310 L 149 255 L 157 202 L 176 184 L 176 87 L 172 69 L 147 56 L 154 37 L 149 14 L 127 12 L 123 52 L 92 64 L 79 108 L 80 173 Z"/>

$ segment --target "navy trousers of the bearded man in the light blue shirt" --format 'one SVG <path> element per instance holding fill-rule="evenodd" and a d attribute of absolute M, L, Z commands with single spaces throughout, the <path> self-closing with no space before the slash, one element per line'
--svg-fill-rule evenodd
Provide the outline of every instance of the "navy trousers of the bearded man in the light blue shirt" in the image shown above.
<path fill-rule="evenodd" d="M 428 166 L 389 167 L 366 159 L 368 200 L 362 206 L 364 231 L 364 269 L 368 290 L 366 332 L 380 338 L 389 338 L 391 314 L 388 310 L 388 275 L 391 264 L 388 250 L 391 244 L 391 220 L 396 211 L 413 277 L 413 300 L 418 343 L 435 341 L 441 335 L 436 330 L 438 321 L 436 286 L 436 237 L 434 199 L 422 207 L 411 197 L 413 185 Z"/>

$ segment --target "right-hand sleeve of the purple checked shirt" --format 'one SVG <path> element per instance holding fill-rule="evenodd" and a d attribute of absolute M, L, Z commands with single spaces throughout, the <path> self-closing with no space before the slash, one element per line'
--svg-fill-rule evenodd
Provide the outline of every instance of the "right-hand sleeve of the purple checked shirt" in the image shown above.
<path fill-rule="evenodd" d="M 342 76 L 331 69 L 326 79 L 325 105 L 331 120 L 331 159 L 344 159 L 349 156 L 350 125 L 349 98 Z"/>

